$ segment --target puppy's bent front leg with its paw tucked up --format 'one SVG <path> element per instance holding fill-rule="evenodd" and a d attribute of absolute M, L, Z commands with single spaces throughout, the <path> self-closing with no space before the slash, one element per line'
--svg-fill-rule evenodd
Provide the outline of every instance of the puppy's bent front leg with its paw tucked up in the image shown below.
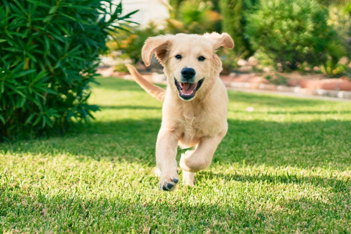
<path fill-rule="evenodd" d="M 196 172 L 208 167 L 223 137 L 224 134 L 219 134 L 215 137 L 202 138 L 198 147 L 192 154 L 182 154 L 180 161 L 181 168 L 189 172 Z"/>

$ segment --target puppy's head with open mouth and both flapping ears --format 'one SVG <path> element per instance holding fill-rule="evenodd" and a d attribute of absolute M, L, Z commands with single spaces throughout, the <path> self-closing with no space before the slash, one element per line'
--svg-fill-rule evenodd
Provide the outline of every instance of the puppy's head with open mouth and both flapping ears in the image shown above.
<path fill-rule="evenodd" d="M 195 98 L 196 93 L 207 92 L 222 70 L 216 51 L 220 47 L 232 49 L 234 42 L 226 34 L 176 34 L 148 38 L 141 56 L 150 65 L 152 55 L 164 67 L 169 84 L 184 101 Z M 201 87 L 206 87 L 202 88 Z"/>

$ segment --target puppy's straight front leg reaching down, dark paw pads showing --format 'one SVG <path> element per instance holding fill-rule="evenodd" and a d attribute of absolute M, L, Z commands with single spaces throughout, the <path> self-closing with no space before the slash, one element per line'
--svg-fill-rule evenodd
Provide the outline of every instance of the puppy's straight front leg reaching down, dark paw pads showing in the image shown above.
<path fill-rule="evenodd" d="M 165 191 L 174 189 L 175 184 L 179 181 L 177 161 L 178 140 L 180 133 L 160 129 L 156 141 L 156 164 L 160 169 L 159 188 Z"/>

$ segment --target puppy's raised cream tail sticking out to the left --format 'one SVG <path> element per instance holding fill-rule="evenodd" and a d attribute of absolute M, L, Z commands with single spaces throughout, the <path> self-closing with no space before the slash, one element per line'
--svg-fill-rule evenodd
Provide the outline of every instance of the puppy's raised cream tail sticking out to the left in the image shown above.
<path fill-rule="evenodd" d="M 132 75 L 136 83 L 138 83 L 141 86 L 141 88 L 143 88 L 148 94 L 156 98 L 158 101 L 164 100 L 164 89 L 152 84 L 151 82 L 143 78 L 134 66 L 130 64 L 126 64 L 125 66 L 128 68 L 130 74 Z"/>

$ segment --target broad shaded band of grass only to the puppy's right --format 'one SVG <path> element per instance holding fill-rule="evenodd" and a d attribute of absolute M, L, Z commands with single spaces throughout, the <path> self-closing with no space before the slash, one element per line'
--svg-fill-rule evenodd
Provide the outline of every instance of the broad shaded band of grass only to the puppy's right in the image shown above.
<path fill-rule="evenodd" d="M 351 121 L 272 122 L 229 120 L 214 162 L 268 166 L 349 168 Z"/>

